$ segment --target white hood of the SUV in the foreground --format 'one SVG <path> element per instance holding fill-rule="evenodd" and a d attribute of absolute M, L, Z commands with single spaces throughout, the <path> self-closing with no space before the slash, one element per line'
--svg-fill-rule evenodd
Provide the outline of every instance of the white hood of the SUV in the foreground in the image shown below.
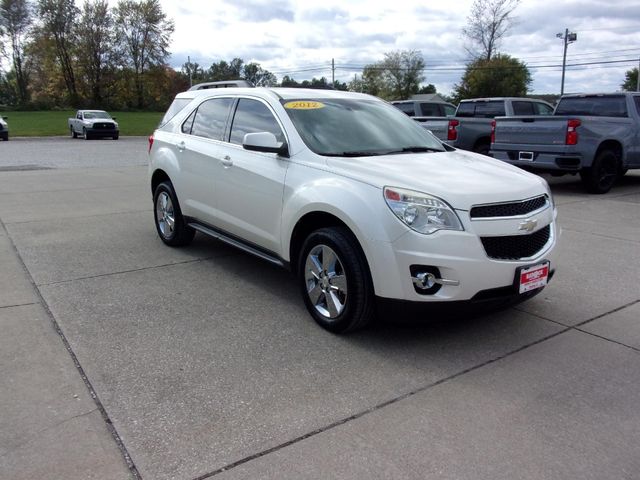
<path fill-rule="evenodd" d="M 428 193 L 459 210 L 547 193 L 545 180 L 537 175 L 460 150 L 326 160 L 336 174 L 379 188 L 391 186 Z"/>

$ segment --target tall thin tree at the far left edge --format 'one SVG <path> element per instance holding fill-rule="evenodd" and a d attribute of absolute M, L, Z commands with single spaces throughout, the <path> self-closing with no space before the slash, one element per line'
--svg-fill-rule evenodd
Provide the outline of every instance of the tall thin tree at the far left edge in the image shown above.
<path fill-rule="evenodd" d="M 32 21 L 31 5 L 27 0 L 0 1 L 0 36 L 8 37 L 16 94 L 21 105 L 29 100 L 29 67 L 25 61 L 25 45 Z"/>

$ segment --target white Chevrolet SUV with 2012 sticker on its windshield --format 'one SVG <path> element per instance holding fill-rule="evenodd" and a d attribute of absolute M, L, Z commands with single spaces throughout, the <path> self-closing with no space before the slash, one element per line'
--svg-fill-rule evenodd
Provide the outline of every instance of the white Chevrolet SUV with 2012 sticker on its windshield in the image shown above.
<path fill-rule="evenodd" d="M 277 88 L 185 100 L 149 139 L 160 238 L 197 231 L 290 268 L 330 331 L 381 303 L 518 302 L 553 273 L 547 183 L 443 145 L 386 102 Z"/>

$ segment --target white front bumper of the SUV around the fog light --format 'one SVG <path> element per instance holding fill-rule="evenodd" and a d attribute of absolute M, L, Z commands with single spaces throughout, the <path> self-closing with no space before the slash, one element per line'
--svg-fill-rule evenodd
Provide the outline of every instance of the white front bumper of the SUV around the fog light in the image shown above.
<path fill-rule="evenodd" d="M 539 231 L 549 227 L 549 239 L 534 255 L 518 260 L 490 258 L 481 237 L 519 234 L 523 218 L 471 221 L 467 215 L 459 215 L 465 231 L 440 231 L 433 235 L 421 235 L 408 231 L 395 242 L 377 244 L 373 262 L 370 261 L 376 296 L 381 300 L 400 300 L 416 303 L 480 302 L 498 299 L 519 301 L 530 294 L 518 295 L 514 286 L 516 272 L 521 267 L 550 262 L 550 270 L 556 267 L 558 227 L 555 210 L 548 207 L 543 212 L 527 216 L 535 218 Z M 536 233 L 533 232 L 533 233 Z M 523 235 L 527 232 L 521 232 Z M 412 277 L 424 267 L 435 269 L 444 285 L 418 291 Z"/>

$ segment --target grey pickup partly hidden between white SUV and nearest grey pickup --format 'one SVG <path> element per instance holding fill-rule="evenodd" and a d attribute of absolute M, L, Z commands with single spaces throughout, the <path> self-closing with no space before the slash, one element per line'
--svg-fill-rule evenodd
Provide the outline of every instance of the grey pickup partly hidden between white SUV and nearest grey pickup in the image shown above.
<path fill-rule="evenodd" d="M 456 148 L 487 155 L 495 117 L 552 113 L 552 105 L 533 98 L 473 98 L 462 100 L 453 118 L 428 118 L 421 125 Z"/>

